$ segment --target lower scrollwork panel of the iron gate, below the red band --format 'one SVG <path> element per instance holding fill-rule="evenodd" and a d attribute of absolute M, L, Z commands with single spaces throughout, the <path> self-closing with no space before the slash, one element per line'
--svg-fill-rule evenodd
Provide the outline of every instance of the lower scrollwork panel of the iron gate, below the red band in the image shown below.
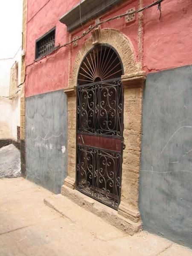
<path fill-rule="evenodd" d="M 112 208 L 120 202 L 121 153 L 77 146 L 77 183 L 80 192 Z"/>

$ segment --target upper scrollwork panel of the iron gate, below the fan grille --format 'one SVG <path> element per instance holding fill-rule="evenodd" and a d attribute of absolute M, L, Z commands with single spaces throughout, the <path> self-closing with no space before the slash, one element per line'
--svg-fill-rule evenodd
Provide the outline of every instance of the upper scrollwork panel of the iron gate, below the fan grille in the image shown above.
<path fill-rule="evenodd" d="M 77 88 L 78 131 L 120 137 L 122 107 L 120 79 L 79 86 Z"/>

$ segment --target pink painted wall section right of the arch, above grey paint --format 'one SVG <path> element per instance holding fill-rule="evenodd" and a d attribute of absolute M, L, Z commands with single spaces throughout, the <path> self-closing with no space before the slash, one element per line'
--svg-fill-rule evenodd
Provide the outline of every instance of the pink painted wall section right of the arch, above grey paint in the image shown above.
<path fill-rule="evenodd" d="M 151 3 L 145 0 L 144 5 Z M 144 70 L 192 64 L 192 1 L 164 0 L 159 20 L 157 6 L 144 11 Z"/>

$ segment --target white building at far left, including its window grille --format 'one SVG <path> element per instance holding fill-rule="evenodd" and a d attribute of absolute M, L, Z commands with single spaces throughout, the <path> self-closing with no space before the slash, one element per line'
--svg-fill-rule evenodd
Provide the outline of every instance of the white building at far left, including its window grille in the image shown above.
<path fill-rule="evenodd" d="M 4 22 L 7 15 L 4 9 L 8 4 L 2 4 L 0 21 Z M 15 14 L 17 12 L 17 15 Z M 13 3 L 9 14 L 15 23 L 7 22 L 2 33 L 6 37 L 0 42 L 0 147 L 15 143 L 20 145 L 20 73 L 22 45 L 22 0 Z M 7 33 L 9 31 L 9 33 Z M 14 44 L 12 42 L 14 38 Z M 18 142 L 18 143 L 17 143 Z"/>

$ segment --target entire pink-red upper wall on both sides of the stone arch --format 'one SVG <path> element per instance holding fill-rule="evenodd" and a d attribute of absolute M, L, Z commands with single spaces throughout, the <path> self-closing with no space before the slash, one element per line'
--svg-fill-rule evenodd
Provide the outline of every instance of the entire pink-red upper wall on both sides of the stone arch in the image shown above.
<path fill-rule="evenodd" d="M 79 0 L 28 0 L 27 14 L 27 47 L 26 65 L 34 62 L 35 40 L 56 26 L 55 46 L 69 41 L 70 35 L 59 18 L 69 11 Z M 144 6 L 152 3 L 144 0 Z M 101 20 L 122 14 L 128 9 L 139 8 L 139 0 L 128 1 L 121 8 L 102 15 Z M 149 72 L 164 70 L 172 67 L 192 64 L 192 5 L 191 0 L 164 0 L 161 4 L 162 16 L 159 20 L 157 6 L 143 12 L 143 69 Z M 132 23 L 125 23 L 125 18 L 113 20 L 102 25 L 102 28 L 119 29 L 128 36 L 134 47 L 137 61 L 138 48 L 138 17 Z M 90 24 L 84 26 L 86 29 Z M 81 35 L 84 29 L 73 32 L 71 37 Z M 84 41 L 72 48 L 71 69 L 77 52 Z M 68 86 L 68 47 L 59 49 L 52 55 L 47 55 L 38 63 L 26 70 L 25 96 L 32 96 Z"/>

